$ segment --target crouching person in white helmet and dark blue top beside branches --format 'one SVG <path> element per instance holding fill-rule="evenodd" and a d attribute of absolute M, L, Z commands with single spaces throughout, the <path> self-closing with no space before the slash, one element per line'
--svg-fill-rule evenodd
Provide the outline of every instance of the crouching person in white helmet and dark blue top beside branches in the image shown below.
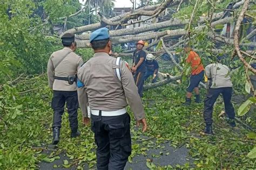
<path fill-rule="evenodd" d="M 144 81 L 146 79 L 153 75 L 153 80 L 152 83 L 157 82 L 157 73 L 158 73 L 158 62 L 157 60 L 154 60 L 154 55 L 153 54 L 147 54 L 146 56 L 146 74 L 144 76 Z"/>

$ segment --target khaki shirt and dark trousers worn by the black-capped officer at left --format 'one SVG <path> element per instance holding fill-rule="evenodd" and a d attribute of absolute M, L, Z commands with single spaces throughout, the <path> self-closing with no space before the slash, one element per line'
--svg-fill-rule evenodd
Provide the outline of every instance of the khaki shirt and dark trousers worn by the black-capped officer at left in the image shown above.
<path fill-rule="evenodd" d="M 66 55 L 68 52 L 70 53 Z M 56 69 L 54 69 L 53 67 L 56 65 L 56 63 L 58 63 L 65 55 L 66 57 L 59 63 Z M 64 113 L 64 107 L 66 105 L 69 113 L 71 134 L 77 133 L 78 97 L 76 82 L 74 82 L 73 84 L 69 84 L 68 81 L 54 79 L 54 76 L 68 77 L 69 75 L 75 75 L 77 73 L 77 69 L 82 64 L 83 59 L 77 54 L 73 53 L 69 47 L 64 47 L 63 49 L 52 53 L 52 55 L 50 56 L 47 73 L 49 87 L 53 89 L 53 98 L 51 102 L 51 107 L 54 112 L 52 123 L 53 129 L 61 128 L 62 115 Z"/>

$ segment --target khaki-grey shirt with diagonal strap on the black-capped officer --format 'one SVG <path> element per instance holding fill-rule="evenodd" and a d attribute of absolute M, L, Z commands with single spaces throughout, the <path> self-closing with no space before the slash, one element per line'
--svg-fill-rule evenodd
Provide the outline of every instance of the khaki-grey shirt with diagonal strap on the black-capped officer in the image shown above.
<path fill-rule="evenodd" d="M 63 58 L 64 55 L 69 53 L 65 59 L 59 63 L 58 67 L 54 69 L 53 67 L 56 63 Z M 69 84 L 68 81 L 55 80 L 54 76 L 67 77 L 69 75 L 77 74 L 78 68 L 83 65 L 83 59 L 72 52 L 72 49 L 69 47 L 64 47 L 63 49 L 53 52 L 48 61 L 47 73 L 48 73 L 48 82 L 49 87 L 53 90 L 58 91 L 76 91 L 77 86 L 76 82 Z"/>

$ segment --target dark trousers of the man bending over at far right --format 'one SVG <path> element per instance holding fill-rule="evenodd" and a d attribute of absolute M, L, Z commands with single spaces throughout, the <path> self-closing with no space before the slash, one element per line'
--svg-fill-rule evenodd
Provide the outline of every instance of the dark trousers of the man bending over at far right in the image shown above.
<path fill-rule="evenodd" d="M 231 96 L 232 96 L 232 87 L 223 87 L 223 88 L 210 88 L 205 98 L 204 104 L 204 119 L 206 124 L 212 124 L 212 112 L 213 112 L 213 105 L 217 100 L 218 96 L 222 94 L 224 105 L 225 105 L 225 112 L 230 119 L 234 119 L 235 113 L 234 108 L 231 103 Z"/>

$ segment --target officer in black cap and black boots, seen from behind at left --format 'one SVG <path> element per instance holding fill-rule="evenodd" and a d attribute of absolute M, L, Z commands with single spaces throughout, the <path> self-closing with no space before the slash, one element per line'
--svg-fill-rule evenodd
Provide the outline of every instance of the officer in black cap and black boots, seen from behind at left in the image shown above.
<path fill-rule="evenodd" d="M 75 35 L 66 33 L 62 36 L 63 49 L 53 52 L 48 61 L 49 87 L 53 90 L 52 109 L 53 114 L 53 141 L 59 142 L 59 133 L 62 123 L 64 106 L 68 108 L 71 138 L 79 136 L 77 121 L 77 87 L 76 74 L 83 64 L 83 59 L 74 53 L 76 50 Z"/>

